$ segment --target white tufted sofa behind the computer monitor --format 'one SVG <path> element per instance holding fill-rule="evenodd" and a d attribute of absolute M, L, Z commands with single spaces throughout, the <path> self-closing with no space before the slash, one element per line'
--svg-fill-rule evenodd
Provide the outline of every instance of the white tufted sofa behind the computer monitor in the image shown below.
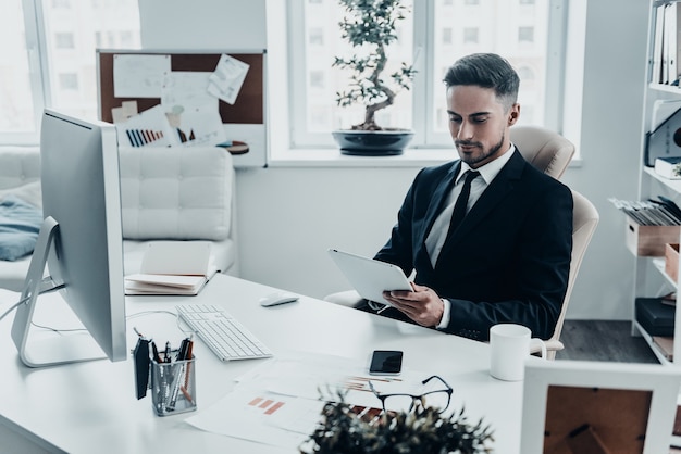
<path fill-rule="evenodd" d="M 211 260 L 238 275 L 234 166 L 216 147 L 120 150 L 123 251 L 126 274 L 138 273 L 151 241 L 211 241 Z M 40 152 L 0 149 L 0 199 L 13 194 L 41 205 Z M 0 288 L 21 291 L 30 255 L 0 260 Z"/>

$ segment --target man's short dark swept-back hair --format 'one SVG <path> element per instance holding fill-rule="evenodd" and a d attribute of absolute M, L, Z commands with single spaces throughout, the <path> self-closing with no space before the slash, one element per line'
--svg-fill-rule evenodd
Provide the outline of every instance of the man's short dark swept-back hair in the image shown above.
<path fill-rule="evenodd" d="M 457 85 L 493 88 L 508 111 L 518 101 L 520 77 L 510 63 L 496 53 L 473 53 L 449 66 L 444 83 L 447 88 Z"/>

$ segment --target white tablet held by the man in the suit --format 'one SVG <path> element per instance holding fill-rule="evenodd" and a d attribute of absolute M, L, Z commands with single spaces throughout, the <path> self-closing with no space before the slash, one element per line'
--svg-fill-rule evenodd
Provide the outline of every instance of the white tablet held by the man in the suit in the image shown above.
<path fill-rule="evenodd" d="M 330 249 L 329 254 L 359 295 L 367 300 L 391 305 L 383 298 L 383 291 L 412 290 L 399 266 L 336 249 Z"/>

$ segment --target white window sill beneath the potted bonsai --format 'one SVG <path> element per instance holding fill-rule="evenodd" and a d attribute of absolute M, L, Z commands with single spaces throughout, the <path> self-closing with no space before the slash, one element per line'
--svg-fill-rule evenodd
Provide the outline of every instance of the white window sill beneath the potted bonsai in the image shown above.
<path fill-rule="evenodd" d="M 424 167 L 458 159 L 450 149 L 407 149 L 398 156 L 348 156 L 338 149 L 289 149 L 273 152 L 269 167 Z"/>

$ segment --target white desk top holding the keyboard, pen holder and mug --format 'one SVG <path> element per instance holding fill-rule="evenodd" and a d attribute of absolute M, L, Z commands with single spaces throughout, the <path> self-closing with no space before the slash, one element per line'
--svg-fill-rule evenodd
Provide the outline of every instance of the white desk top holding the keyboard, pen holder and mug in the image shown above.
<path fill-rule="evenodd" d="M 173 311 L 177 303 L 210 302 L 223 305 L 275 355 L 307 351 L 352 357 L 358 364 L 366 364 L 374 349 L 404 350 L 405 368 L 442 376 L 454 388 L 451 405 L 460 408 L 466 404 L 471 420 L 484 416 L 495 431 L 494 446 L 497 450 L 508 454 L 519 451 L 522 382 L 503 382 L 490 377 L 486 344 L 306 297 L 292 304 L 260 307 L 258 299 L 274 290 L 219 275 L 198 297 L 129 298 L 127 315 L 141 311 Z M 8 304 L 1 307 L 8 307 Z M 58 326 L 53 319 L 44 321 Z M 129 360 L 27 368 L 11 341 L 11 316 L 0 321 L 4 345 L 0 350 L 3 365 L 0 424 L 49 451 L 116 454 L 286 452 L 205 432 L 184 423 L 196 413 L 156 416 L 149 394 L 140 401 L 135 399 Z M 183 338 L 175 318 L 168 314 L 131 318 L 127 326 L 131 349 L 136 341 L 133 327 L 157 341 L 176 339 L 175 345 Z M 198 412 L 230 392 L 235 377 L 267 361 L 221 363 L 200 340 L 196 342 L 195 354 Z"/>

